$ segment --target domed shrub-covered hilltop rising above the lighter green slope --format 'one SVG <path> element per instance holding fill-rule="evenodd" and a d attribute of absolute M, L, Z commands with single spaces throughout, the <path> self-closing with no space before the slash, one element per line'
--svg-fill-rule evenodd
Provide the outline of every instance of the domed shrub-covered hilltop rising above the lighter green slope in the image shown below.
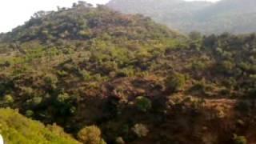
<path fill-rule="evenodd" d="M 66 40 L 89 40 L 99 37 L 149 40 L 152 38 L 174 38 L 168 30 L 141 15 L 124 15 L 105 6 L 93 8 L 82 4 L 58 12 L 39 11 L 10 33 L 3 35 L 6 42 L 42 42 Z"/>

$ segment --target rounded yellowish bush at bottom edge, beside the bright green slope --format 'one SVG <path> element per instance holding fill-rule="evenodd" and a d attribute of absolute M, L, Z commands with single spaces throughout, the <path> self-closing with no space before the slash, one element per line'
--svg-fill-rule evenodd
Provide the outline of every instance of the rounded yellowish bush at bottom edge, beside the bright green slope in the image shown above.
<path fill-rule="evenodd" d="M 78 140 L 85 144 L 105 144 L 101 134 L 97 126 L 86 126 L 78 132 Z"/>

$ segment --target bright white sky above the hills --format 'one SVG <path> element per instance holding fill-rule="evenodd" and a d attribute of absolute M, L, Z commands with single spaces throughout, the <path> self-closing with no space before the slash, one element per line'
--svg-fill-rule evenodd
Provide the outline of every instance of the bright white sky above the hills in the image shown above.
<path fill-rule="evenodd" d="M 104 4 L 109 0 L 85 0 L 89 3 Z M 193 1 L 193 0 L 186 0 Z M 218 1 L 218 0 L 206 0 Z M 30 16 L 39 10 L 56 10 L 57 6 L 72 6 L 78 0 L 1 0 L 0 1 L 0 32 L 7 32 L 22 25 Z"/>

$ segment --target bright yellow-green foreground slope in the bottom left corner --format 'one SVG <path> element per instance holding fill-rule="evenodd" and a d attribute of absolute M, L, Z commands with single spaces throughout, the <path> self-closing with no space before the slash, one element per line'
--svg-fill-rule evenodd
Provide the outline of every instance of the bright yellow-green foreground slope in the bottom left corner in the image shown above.
<path fill-rule="evenodd" d="M 0 109 L 0 125 L 6 143 L 79 143 L 56 125 L 44 126 L 10 109 Z"/>

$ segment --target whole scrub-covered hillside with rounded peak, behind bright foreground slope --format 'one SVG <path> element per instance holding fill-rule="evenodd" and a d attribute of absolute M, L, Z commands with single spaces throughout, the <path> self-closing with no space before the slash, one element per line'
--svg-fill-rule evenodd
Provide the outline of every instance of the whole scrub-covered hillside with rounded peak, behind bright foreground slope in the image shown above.
<path fill-rule="evenodd" d="M 255 34 L 186 37 L 79 2 L 1 39 L 0 105 L 79 142 L 256 142 Z"/>

